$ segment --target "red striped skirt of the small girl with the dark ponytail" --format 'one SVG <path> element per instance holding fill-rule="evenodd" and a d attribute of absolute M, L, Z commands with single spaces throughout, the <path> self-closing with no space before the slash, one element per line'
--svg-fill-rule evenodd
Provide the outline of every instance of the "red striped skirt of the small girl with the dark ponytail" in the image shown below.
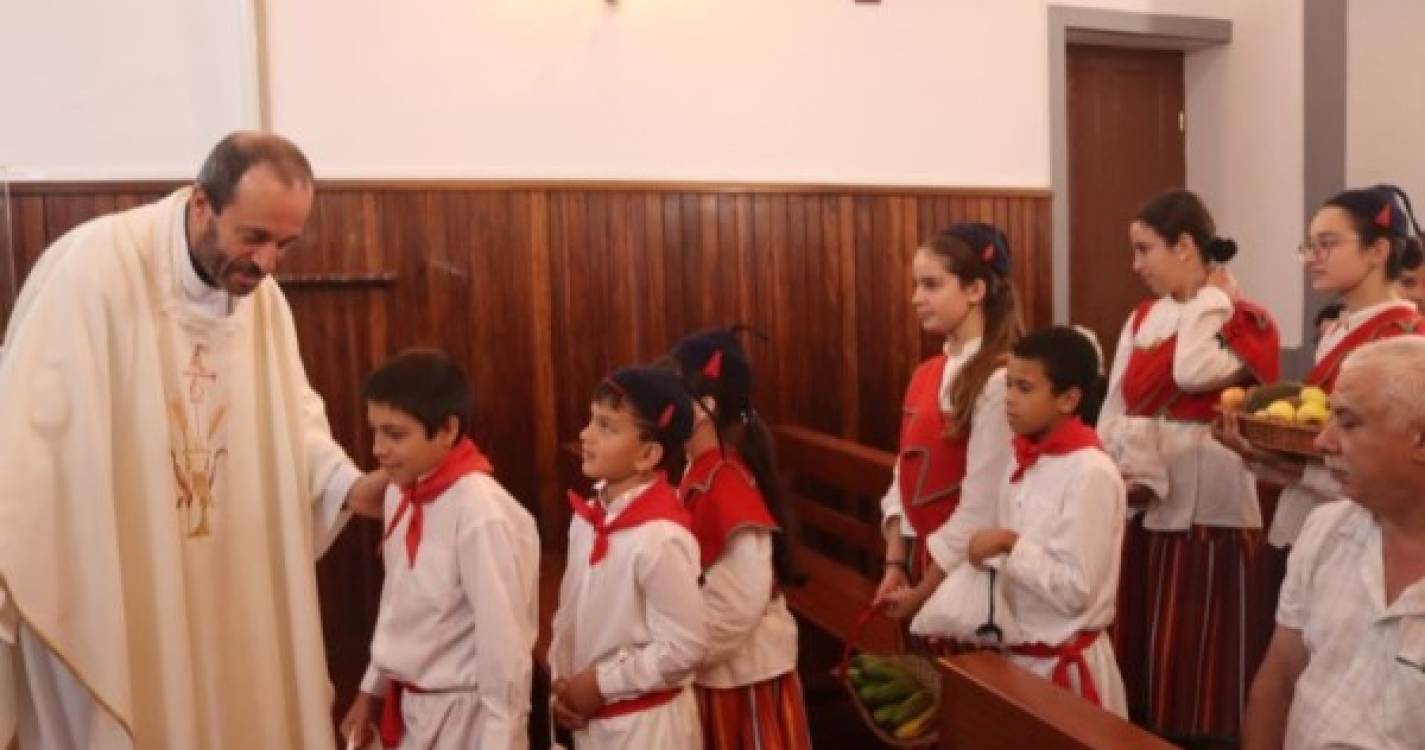
<path fill-rule="evenodd" d="M 742 687 L 697 687 L 707 750 L 811 750 L 797 670 Z"/>

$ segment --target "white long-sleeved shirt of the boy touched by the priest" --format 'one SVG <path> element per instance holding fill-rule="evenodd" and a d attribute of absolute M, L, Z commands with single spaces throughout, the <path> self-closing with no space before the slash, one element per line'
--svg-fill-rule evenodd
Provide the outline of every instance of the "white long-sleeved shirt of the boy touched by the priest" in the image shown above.
<path fill-rule="evenodd" d="M 386 519 L 400 490 L 386 492 Z M 386 580 L 362 690 L 396 679 L 430 693 L 475 693 L 482 747 L 529 743 L 532 649 L 539 632 L 539 530 L 494 478 L 469 473 L 423 509 L 406 555 L 408 509 L 382 543 Z"/>

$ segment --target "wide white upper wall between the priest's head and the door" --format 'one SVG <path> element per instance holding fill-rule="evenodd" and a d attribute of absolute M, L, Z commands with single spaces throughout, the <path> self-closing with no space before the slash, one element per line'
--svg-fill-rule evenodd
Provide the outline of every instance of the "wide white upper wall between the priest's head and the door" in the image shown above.
<path fill-rule="evenodd" d="M 271 3 L 272 123 L 329 175 L 1047 187 L 1046 6 Z"/>

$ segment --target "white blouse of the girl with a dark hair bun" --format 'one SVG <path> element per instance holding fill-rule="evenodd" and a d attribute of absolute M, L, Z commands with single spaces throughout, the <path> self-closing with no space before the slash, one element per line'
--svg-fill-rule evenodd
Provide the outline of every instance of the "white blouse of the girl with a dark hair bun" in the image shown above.
<path fill-rule="evenodd" d="M 1134 346 L 1151 348 L 1177 335 L 1173 379 L 1188 394 L 1208 392 L 1241 378 L 1245 365 L 1217 334 L 1233 315 L 1233 304 L 1217 287 L 1203 287 L 1187 302 L 1163 297 L 1153 302 L 1137 334 L 1133 317 L 1123 325 L 1109 376 L 1109 396 L 1099 412 L 1099 436 L 1113 445 L 1130 423 L 1123 401 L 1123 375 Z M 1260 529 L 1257 481 L 1241 456 L 1213 439 L 1207 423 L 1157 418 L 1159 452 L 1167 468 L 1167 493 L 1144 512 L 1151 530 L 1186 530 L 1193 525 Z"/>

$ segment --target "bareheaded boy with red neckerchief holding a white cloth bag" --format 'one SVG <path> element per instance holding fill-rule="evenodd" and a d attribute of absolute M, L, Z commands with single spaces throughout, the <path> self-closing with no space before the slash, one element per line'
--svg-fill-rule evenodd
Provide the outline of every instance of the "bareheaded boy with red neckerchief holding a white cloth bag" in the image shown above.
<path fill-rule="evenodd" d="M 1097 354 L 1072 328 L 1045 328 L 1015 344 L 1006 369 L 1016 466 L 1000 485 L 995 525 L 956 530 L 952 516 L 929 539 L 935 565 L 926 589 L 916 586 L 909 603 L 929 596 L 945 570 L 998 570 L 1016 623 L 1006 643 L 1010 659 L 1126 717 L 1123 677 L 1104 632 L 1119 589 L 1124 488 L 1079 416 L 1092 413 L 1097 399 Z M 922 617 L 911 632 L 968 640 L 963 633 L 936 633 Z"/>

